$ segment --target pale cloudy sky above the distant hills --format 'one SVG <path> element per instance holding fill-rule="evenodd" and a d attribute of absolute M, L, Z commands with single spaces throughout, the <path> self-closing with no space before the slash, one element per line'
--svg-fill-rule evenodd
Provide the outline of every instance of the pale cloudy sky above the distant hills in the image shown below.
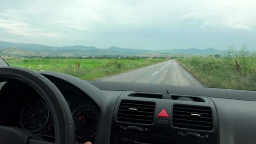
<path fill-rule="evenodd" d="M 256 0 L 0 0 L 0 40 L 97 48 L 256 49 Z"/>

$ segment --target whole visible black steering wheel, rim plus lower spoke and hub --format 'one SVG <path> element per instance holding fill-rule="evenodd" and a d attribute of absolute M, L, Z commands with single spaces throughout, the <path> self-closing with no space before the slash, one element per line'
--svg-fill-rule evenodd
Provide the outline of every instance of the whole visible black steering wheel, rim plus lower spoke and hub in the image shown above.
<path fill-rule="evenodd" d="M 19 81 L 34 88 L 49 107 L 55 126 L 55 144 L 75 144 L 75 131 L 70 108 L 59 91 L 46 77 L 19 67 L 0 67 L 0 82 Z M 0 126 L 1 144 L 50 144 L 31 138 L 22 129 Z"/>

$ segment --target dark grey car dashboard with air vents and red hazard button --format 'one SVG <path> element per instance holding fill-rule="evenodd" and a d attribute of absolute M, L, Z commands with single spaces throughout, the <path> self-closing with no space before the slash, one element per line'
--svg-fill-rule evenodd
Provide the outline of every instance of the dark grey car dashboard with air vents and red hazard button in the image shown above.
<path fill-rule="evenodd" d="M 85 82 L 57 72 L 39 73 L 56 85 L 66 99 L 76 143 L 256 142 L 253 91 Z M 37 91 L 15 81 L 0 85 L 0 125 L 24 129 L 53 143 L 53 118 Z"/>

